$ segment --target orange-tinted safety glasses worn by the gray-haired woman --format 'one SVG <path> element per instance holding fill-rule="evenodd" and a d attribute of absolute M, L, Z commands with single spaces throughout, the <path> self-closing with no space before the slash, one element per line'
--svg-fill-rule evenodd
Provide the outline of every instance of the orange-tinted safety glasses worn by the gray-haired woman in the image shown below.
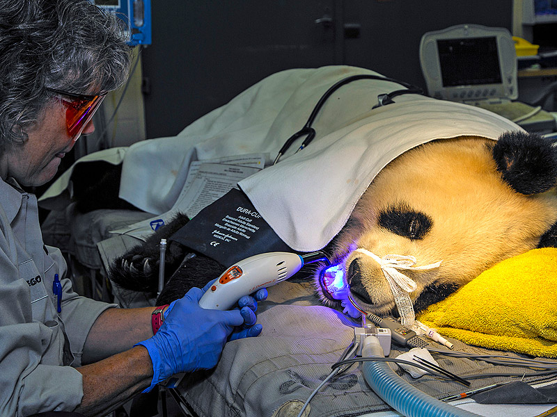
<path fill-rule="evenodd" d="M 73 140 L 79 138 L 85 126 L 87 126 L 88 122 L 91 122 L 95 111 L 100 107 L 104 97 L 107 97 L 106 93 L 102 95 L 83 95 L 54 88 L 47 88 L 47 90 L 72 98 L 72 101 L 61 99 L 61 102 L 66 108 L 65 125 L 68 129 L 68 135 Z"/>

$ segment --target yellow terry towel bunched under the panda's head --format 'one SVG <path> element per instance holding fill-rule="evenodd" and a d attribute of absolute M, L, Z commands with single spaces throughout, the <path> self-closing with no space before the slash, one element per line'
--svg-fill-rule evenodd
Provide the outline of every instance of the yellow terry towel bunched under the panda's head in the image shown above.
<path fill-rule="evenodd" d="M 417 320 L 469 345 L 557 357 L 557 248 L 494 265 Z"/>

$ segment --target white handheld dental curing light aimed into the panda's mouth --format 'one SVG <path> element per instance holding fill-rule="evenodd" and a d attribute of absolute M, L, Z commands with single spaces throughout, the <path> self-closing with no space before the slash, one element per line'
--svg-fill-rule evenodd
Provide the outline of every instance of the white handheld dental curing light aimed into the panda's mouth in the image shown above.
<path fill-rule="evenodd" d="M 268 252 L 250 256 L 223 272 L 205 291 L 199 305 L 203 309 L 228 310 L 240 297 L 285 281 L 304 264 L 316 261 L 328 262 L 322 252 L 302 256 L 290 252 Z"/>

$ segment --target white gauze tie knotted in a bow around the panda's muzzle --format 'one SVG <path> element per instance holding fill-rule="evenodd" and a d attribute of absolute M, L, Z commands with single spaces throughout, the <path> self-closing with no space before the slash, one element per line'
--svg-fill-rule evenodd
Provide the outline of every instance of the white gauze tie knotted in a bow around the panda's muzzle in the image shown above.
<path fill-rule="evenodd" d="M 409 293 L 416 290 L 417 286 L 416 282 L 398 270 L 430 270 L 438 268 L 439 265 L 441 265 L 441 261 L 430 263 L 429 265 L 414 266 L 416 264 L 416 258 L 414 256 L 385 255 L 379 258 L 379 256 L 367 249 L 363 249 L 363 247 L 359 247 L 354 252 L 360 252 L 361 254 L 370 256 L 370 258 L 379 263 L 387 282 L 389 282 L 389 286 L 391 286 L 398 313 L 400 314 L 400 322 L 404 326 L 411 327 L 411 325 L 414 324 L 416 316 Z"/>

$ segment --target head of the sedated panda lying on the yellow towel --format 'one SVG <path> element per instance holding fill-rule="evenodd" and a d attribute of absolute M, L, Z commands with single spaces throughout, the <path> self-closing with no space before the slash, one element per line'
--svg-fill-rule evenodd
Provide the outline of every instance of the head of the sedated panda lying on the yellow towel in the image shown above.
<path fill-rule="evenodd" d="M 414 309 L 424 309 L 503 259 L 555 246 L 556 183 L 556 148 L 528 133 L 411 149 L 377 175 L 329 246 L 346 290 L 331 297 L 334 277 L 323 267 L 317 291 L 329 304 L 345 305 L 350 295 L 365 311 L 396 315 L 389 282 L 365 252 L 414 256 L 416 266 L 441 261 L 404 271 L 416 283 Z"/>

